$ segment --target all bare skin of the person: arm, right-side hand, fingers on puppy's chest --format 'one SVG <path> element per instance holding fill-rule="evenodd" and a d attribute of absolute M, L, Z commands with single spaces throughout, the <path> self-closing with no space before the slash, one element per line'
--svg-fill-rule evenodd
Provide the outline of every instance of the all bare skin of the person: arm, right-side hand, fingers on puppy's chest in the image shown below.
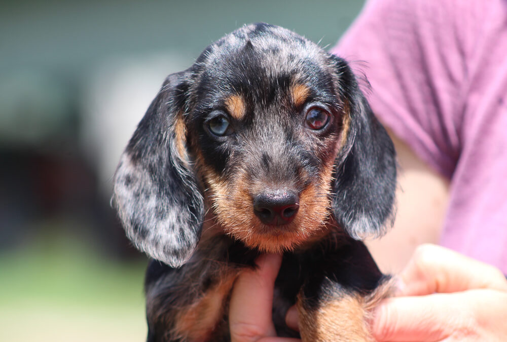
<path fill-rule="evenodd" d="M 490 341 L 507 336 L 507 281 L 491 265 L 428 243 L 437 243 L 449 181 L 391 134 L 400 164 L 393 229 L 366 241 L 384 273 L 398 275 L 396 297 L 374 312 L 372 333 L 379 341 Z M 258 260 L 259 269 L 235 284 L 230 320 L 233 341 L 283 342 L 271 322 L 271 298 L 281 256 Z M 264 296 L 264 297 L 263 297 Z M 264 301 L 259 298 L 265 298 Z M 298 329 L 295 308 L 289 327 Z"/>

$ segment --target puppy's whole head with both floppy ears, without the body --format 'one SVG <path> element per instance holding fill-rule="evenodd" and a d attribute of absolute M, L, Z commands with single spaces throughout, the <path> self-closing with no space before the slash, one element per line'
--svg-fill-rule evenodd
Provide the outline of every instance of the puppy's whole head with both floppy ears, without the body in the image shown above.
<path fill-rule="evenodd" d="M 114 200 L 136 246 L 173 267 L 205 210 L 246 246 L 292 249 L 333 219 L 380 235 L 392 142 L 346 62 L 267 24 L 245 26 L 170 75 L 131 138 Z"/>

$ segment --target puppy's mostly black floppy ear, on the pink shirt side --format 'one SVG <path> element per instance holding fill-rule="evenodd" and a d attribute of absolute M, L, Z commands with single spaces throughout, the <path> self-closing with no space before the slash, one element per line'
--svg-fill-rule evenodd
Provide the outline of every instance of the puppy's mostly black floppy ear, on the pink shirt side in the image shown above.
<path fill-rule="evenodd" d="M 347 141 L 335 169 L 333 210 L 355 239 L 381 236 L 392 226 L 396 189 L 394 146 L 359 89 L 348 64 L 333 56 L 349 116 Z"/>

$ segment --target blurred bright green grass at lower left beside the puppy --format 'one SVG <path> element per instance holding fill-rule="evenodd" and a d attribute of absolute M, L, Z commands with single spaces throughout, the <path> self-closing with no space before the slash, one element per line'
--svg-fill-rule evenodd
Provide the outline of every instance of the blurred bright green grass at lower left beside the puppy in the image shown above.
<path fill-rule="evenodd" d="M 61 234 L 4 252 L 0 340 L 143 340 L 145 268 L 146 260 L 104 259 Z"/>

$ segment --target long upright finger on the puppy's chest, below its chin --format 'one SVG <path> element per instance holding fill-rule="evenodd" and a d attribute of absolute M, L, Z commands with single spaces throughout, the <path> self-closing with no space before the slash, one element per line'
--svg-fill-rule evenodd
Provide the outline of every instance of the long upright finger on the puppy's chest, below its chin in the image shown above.
<path fill-rule="evenodd" d="M 281 255 L 263 254 L 255 271 L 244 271 L 236 280 L 229 308 L 232 342 L 296 342 L 276 337 L 271 317 L 273 288 L 282 262 Z"/>

